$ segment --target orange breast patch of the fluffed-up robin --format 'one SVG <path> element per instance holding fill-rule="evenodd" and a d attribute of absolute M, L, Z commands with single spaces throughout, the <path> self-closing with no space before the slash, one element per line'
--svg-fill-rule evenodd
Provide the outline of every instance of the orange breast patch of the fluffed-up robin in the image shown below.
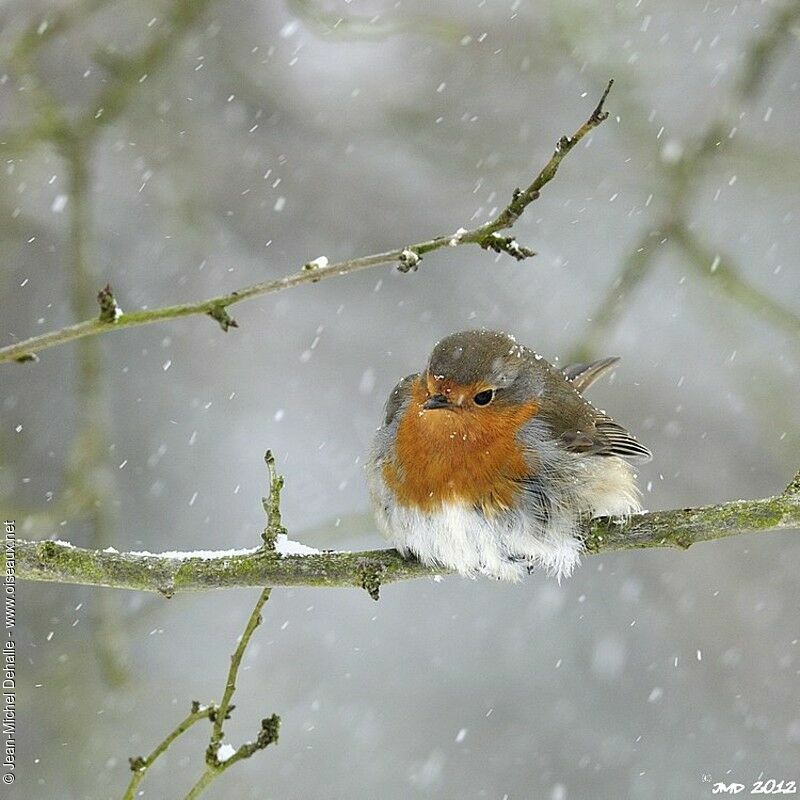
<path fill-rule="evenodd" d="M 397 429 L 396 460 L 383 467 L 398 500 L 423 511 L 454 502 L 490 514 L 509 508 L 520 491 L 517 480 L 530 474 L 517 432 L 537 404 L 426 411 L 427 392 L 419 380 L 411 394 Z"/>

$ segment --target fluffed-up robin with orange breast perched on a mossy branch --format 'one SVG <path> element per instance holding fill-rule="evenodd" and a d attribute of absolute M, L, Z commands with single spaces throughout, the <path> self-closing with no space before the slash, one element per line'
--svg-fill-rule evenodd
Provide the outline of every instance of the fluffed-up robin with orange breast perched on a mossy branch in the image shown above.
<path fill-rule="evenodd" d="M 386 402 L 366 460 L 376 522 L 405 557 L 469 577 L 568 577 L 581 523 L 641 510 L 650 450 L 583 397 L 619 359 L 562 369 L 502 331 L 438 342 Z"/>

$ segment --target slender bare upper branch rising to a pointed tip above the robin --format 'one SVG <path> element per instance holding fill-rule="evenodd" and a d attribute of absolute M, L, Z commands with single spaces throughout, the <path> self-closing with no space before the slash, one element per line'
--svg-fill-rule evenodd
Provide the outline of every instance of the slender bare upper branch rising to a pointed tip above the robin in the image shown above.
<path fill-rule="evenodd" d="M 351 272 L 374 267 L 379 264 L 397 263 L 401 270 L 408 271 L 415 269 L 422 256 L 439 250 L 443 247 L 457 247 L 464 244 L 477 244 L 484 249 L 497 249 L 498 239 L 494 236 L 498 231 L 511 228 L 519 218 L 520 214 L 534 200 L 537 200 L 542 188 L 554 177 L 561 162 L 567 154 L 586 136 L 591 130 L 596 128 L 607 117 L 608 112 L 603 110 L 603 104 L 611 90 L 613 81 L 609 82 L 603 96 L 589 119 L 581 125 L 572 136 L 562 136 L 556 144 L 556 149 L 550 160 L 542 168 L 534 181 L 525 190 L 517 189 L 514 191 L 509 204 L 500 213 L 472 230 L 459 229 L 449 236 L 437 236 L 434 239 L 417 242 L 416 244 L 398 247 L 394 250 L 387 250 L 383 253 L 375 253 L 370 256 L 353 258 L 349 261 L 340 261 L 335 264 L 327 263 L 327 259 L 317 259 L 306 264 L 299 272 L 287 275 L 272 281 L 264 281 L 248 286 L 229 294 L 212 297 L 199 303 L 182 303 L 180 305 L 166 306 L 164 308 L 146 309 L 142 311 L 132 311 L 130 313 L 120 313 L 115 319 L 109 320 L 107 317 L 97 317 L 68 325 L 60 330 L 43 333 L 33 336 L 30 339 L 7 345 L 0 348 L 0 362 L 5 361 L 32 361 L 35 360 L 37 353 L 50 347 L 56 347 L 66 342 L 82 339 L 86 336 L 97 336 L 98 334 L 108 333 L 112 330 L 122 330 L 139 325 L 150 325 L 155 322 L 163 322 L 169 319 L 179 319 L 181 317 L 205 314 L 215 319 L 222 326 L 223 330 L 230 327 L 237 327 L 236 323 L 228 315 L 227 309 L 235 303 L 249 300 L 253 297 L 262 297 L 275 292 L 291 289 L 304 283 L 318 283 L 325 278 L 336 275 L 348 275 Z M 516 247 L 503 239 L 502 249 L 506 252 L 514 250 L 515 258 L 532 255 L 532 251 L 527 248 Z"/>

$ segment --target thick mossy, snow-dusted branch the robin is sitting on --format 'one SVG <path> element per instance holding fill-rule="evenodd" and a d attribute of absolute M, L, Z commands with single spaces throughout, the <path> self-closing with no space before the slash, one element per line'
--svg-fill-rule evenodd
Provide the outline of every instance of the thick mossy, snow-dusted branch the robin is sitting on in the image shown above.
<path fill-rule="evenodd" d="M 688 548 L 742 533 L 800 529 L 800 473 L 775 497 L 715 506 L 652 511 L 626 521 L 596 519 L 584 529 L 586 551 Z M 268 548 L 236 553 L 146 555 L 86 550 L 58 542 L 17 540 L 16 575 L 33 581 L 161 592 L 244 586 L 359 587 L 377 597 L 381 585 L 442 575 L 396 550 L 281 555 Z"/>

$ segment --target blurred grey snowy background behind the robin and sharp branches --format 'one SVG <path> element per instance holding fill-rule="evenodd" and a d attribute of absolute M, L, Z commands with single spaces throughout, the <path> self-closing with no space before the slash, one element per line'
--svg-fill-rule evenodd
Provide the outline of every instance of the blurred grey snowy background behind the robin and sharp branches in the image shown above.
<path fill-rule="evenodd" d="M 253 546 L 263 453 L 292 538 L 381 546 L 362 465 L 397 378 L 457 329 L 622 356 L 592 399 L 655 453 L 649 508 L 779 492 L 800 452 L 800 3 L 9 2 L 0 345 L 403 246 L 502 207 L 608 121 L 514 232 L 0 367 L 24 538 Z M 800 779 L 796 533 L 591 557 L 559 586 L 276 590 L 214 798 L 700 798 Z M 256 590 L 22 584 L 15 797 L 113 798 L 219 699 Z M 202 770 L 198 726 L 146 798 Z"/>

